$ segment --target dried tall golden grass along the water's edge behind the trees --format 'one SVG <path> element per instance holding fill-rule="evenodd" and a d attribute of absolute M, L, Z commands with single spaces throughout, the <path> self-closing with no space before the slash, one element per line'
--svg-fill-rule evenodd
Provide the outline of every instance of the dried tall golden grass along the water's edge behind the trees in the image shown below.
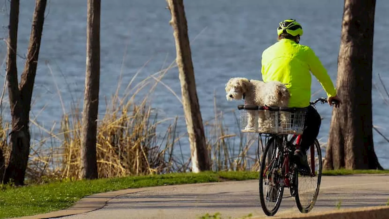
<path fill-rule="evenodd" d="M 46 65 L 53 74 L 49 64 Z M 142 67 L 130 80 L 121 97 L 120 77 L 115 94 L 109 102 L 106 101 L 106 111 L 98 120 L 96 153 L 100 178 L 191 171 L 189 146 L 184 148 L 187 152 L 185 154 L 180 143 L 187 135 L 177 131 L 179 117 L 159 118 L 149 103 L 149 97 L 157 84 L 165 86 L 181 102 L 172 88 L 161 81 L 173 67 L 175 65 L 172 63 L 166 69 L 133 85 Z M 78 104 L 72 102 L 68 113 L 55 80 L 54 84 L 62 104 L 63 117 L 59 129 L 55 123 L 47 129 L 38 124 L 36 117 L 30 119 L 32 133 L 40 134 L 32 136 L 33 143 L 26 172 L 29 182 L 79 178 L 81 111 Z M 145 88 L 149 89 L 149 92 L 135 101 L 135 97 Z M 240 171 L 258 168 L 256 155 L 249 155 L 255 140 L 246 143 L 238 129 L 230 132 L 224 125 L 224 114 L 217 109 L 215 98 L 215 118 L 204 124 L 212 170 Z M 157 127 L 161 124 L 167 128 L 157 132 Z M 10 150 L 7 145 L 9 124 L 0 124 L 0 127 L 0 147 L 7 154 Z M 236 141 L 237 137 L 239 142 Z"/>

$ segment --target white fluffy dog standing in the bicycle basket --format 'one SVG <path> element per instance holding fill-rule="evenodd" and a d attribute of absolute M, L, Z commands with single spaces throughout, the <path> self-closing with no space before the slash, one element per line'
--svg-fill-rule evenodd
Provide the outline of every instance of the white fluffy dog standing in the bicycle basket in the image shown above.
<path fill-rule="evenodd" d="M 279 106 L 287 107 L 290 93 L 286 86 L 279 81 L 267 83 L 247 78 L 231 78 L 226 83 L 226 98 L 228 101 L 244 99 L 245 105 Z M 267 110 L 250 110 L 245 129 L 255 129 L 255 113 L 258 113 L 258 124 L 261 132 L 266 132 L 274 127 L 274 121 Z M 280 111 L 281 124 L 287 122 L 287 117 Z"/>

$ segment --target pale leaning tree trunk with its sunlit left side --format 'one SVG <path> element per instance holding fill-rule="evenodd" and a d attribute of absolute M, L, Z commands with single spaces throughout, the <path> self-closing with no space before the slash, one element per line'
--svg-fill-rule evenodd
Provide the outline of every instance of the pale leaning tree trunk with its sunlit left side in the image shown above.
<path fill-rule="evenodd" d="M 173 26 L 177 51 L 176 62 L 179 69 L 182 103 L 184 105 L 186 127 L 191 147 L 192 171 L 197 173 L 199 171 L 210 170 L 210 158 L 205 141 L 200 106 L 198 104 L 184 3 L 182 0 L 166 0 L 166 2 L 172 15 L 169 23 Z"/>

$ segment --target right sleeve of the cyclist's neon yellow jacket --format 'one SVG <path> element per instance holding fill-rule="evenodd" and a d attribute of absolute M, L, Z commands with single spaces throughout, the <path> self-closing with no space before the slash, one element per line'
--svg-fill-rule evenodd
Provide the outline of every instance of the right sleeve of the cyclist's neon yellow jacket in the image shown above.
<path fill-rule="evenodd" d="M 336 96 L 336 90 L 331 78 L 319 58 L 315 55 L 315 52 L 311 48 L 307 47 L 307 53 L 308 65 L 312 74 L 319 80 L 321 86 L 324 88 L 329 97 Z"/>

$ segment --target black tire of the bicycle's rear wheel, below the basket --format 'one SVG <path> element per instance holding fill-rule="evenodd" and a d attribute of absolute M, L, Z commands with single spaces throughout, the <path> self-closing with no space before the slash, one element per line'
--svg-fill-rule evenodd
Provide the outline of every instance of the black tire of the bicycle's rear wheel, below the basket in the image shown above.
<path fill-rule="evenodd" d="M 280 140 L 280 139 L 277 138 L 277 140 Z M 265 168 L 267 167 L 266 162 L 265 162 L 266 157 L 268 156 L 269 151 L 274 152 L 274 151 L 276 151 L 275 149 L 278 147 L 280 156 L 279 156 L 279 158 L 275 159 L 274 163 L 277 165 L 276 167 L 278 167 L 278 165 L 279 165 L 280 166 L 279 168 L 282 168 L 282 161 L 283 161 L 283 157 L 284 157 L 282 154 L 282 141 L 281 141 L 281 143 L 280 143 L 280 141 L 276 141 L 276 142 L 278 142 L 278 145 L 274 145 L 275 147 L 272 148 L 272 146 L 273 146 L 272 143 L 274 141 L 275 141 L 274 138 L 270 138 L 268 143 L 266 144 L 265 151 L 262 154 L 261 170 L 259 171 L 259 199 L 261 201 L 261 207 L 263 209 L 263 212 L 268 216 L 273 216 L 275 213 L 277 213 L 278 209 L 280 208 L 281 201 L 282 201 L 282 195 L 284 194 L 284 186 L 279 185 L 279 188 L 277 189 L 279 191 L 278 191 L 277 199 L 275 201 L 275 205 L 274 205 L 273 209 L 271 209 L 271 210 L 268 209 L 268 207 L 266 206 L 266 203 L 265 203 L 264 191 L 263 191 L 264 171 L 265 171 Z M 272 148 L 273 150 L 270 150 L 270 148 Z M 270 157 L 273 157 L 272 154 L 270 154 Z M 269 182 L 268 182 L 268 184 L 269 184 Z M 272 192 L 270 192 L 270 193 L 272 193 Z M 267 192 L 266 192 L 266 194 L 267 194 Z"/>

